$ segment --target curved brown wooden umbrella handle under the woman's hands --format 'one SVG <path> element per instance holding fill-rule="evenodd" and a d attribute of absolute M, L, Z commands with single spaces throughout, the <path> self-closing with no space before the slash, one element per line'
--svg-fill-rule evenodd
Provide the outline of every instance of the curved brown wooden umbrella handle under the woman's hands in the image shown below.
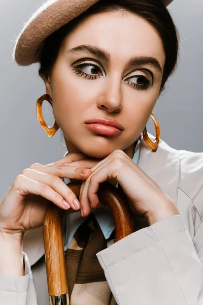
<path fill-rule="evenodd" d="M 78 199 L 81 184 L 82 180 L 74 180 L 67 184 Z M 97 196 L 99 201 L 108 205 L 112 211 L 115 225 L 114 242 L 131 234 L 133 221 L 124 192 L 105 181 L 99 185 Z M 43 223 L 45 262 L 51 305 L 69 304 L 61 226 L 65 211 L 53 203 L 50 204 Z"/>

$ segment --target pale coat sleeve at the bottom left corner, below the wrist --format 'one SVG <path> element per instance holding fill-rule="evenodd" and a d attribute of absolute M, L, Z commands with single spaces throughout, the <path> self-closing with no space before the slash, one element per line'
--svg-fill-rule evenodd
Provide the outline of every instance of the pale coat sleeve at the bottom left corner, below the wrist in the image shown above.
<path fill-rule="evenodd" d="M 31 267 L 23 252 L 25 275 L 7 276 L 0 273 L 0 305 L 37 305 L 37 294 L 33 283 Z"/>

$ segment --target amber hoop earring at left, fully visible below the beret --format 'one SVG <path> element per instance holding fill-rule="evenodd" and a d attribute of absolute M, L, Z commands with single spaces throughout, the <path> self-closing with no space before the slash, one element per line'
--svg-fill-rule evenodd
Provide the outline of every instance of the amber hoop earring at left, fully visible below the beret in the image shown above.
<path fill-rule="evenodd" d="M 49 126 L 47 126 L 47 124 L 45 123 L 45 120 L 44 120 L 44 117 L 42 115 L 42 103 L 44 101 L 47 101 L 49 102 L 49 104 L 52 106 L 53 103 L 52 103 L 52 98 L 50 97 L 50 95 L 48 94 L 44 94 L 41 98 L 39 98 L 37 100 L 37 118 L 38 118 L 38 121 L 40 123 L 40 125 L 42 126 L 42 128 L 45 130 L 46 134 L 49 136 L 49 137 L 53 137 L 55 135 L 55 133 L 57 132 L 57 130 L 59 129 L 59 126 L 58 124 L 54 123 L 54 126 L 52 128 L 50 128 Z"/>

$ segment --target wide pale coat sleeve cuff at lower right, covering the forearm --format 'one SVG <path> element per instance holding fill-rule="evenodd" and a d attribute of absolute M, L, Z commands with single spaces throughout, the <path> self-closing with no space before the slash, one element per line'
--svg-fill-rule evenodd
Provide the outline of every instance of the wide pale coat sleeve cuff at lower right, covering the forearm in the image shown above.
<path fill-rule="evenodd" d="M 198 232 L 194 239 L 199 256 L 181 215 L 162 219 L 97 253 L 117 304 L 203 304 L 202 225 Z"/>

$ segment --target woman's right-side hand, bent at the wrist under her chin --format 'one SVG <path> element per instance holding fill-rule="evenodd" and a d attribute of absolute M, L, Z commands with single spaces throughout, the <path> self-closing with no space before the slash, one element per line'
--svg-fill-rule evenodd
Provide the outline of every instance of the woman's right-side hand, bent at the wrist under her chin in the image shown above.
<path fill-rule="evenodd" d="M 85 162 L 88 167 L 88 159 Z M 91 158 L 89 162 L 92 165 Z M 132 212 L 145 217 L 149 225 L 165 217 L 179 215 L 171 198 L 122 150 L 113 151 L 107 158 L 90 168 L 92 173 L 82 181 L 80 189 L 82 216 L 89 215 L 91 208 L 98 207 L 100 202 L 96 193 L 99 184 L 108 180 L 111 183 L 114 181 L 114 184 L 118 182 L 128 197 Z"/>

